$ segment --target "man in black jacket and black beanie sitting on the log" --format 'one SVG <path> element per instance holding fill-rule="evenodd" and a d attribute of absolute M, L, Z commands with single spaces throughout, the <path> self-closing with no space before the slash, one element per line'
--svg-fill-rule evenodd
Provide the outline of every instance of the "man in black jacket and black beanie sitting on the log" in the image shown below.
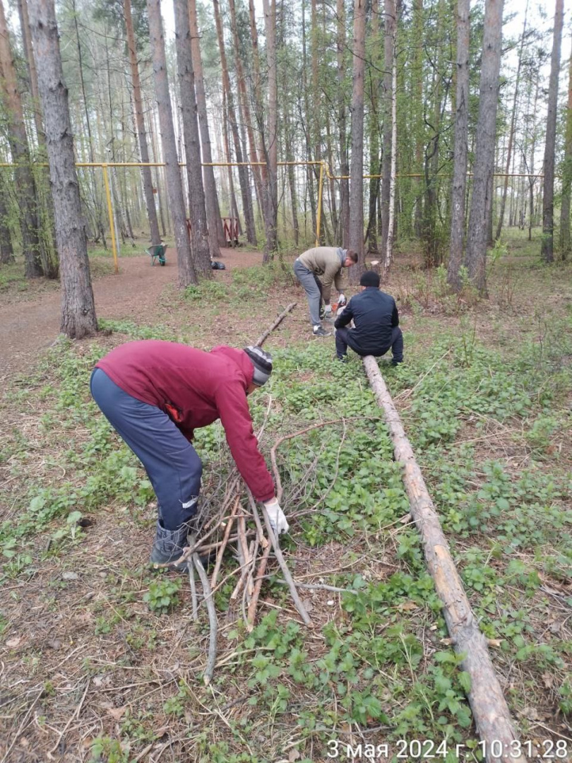
<path fill-rule="evenodd" d="M 358 355 L 380 356 L 391 348 L 393 365 L 403 362 L 403 334 L 395 300 L 379 290 L 379 275 L 366 270 L 360 293 L 350 299 L 336 323 L 336 354 L 347 360 L 348 345 Z M 345 328 L 351 321 L 355 328 Z"/>

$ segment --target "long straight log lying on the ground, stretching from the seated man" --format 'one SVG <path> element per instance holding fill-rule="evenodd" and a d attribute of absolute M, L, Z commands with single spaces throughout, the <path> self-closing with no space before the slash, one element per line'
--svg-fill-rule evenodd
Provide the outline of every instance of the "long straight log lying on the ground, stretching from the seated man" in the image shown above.
<path fill-rule="evenodd" d="M 410 500 L 411 515 L 423 542 L 423 552 L 429 573 L 435 581 L 435 590 L 443 603 L 448 632 L 455 652 L 463 657 L 461 668 L 471 676 L 468 700 L 477 733 L 484 742 L 487 763 L 525 763 L 524 756 L 511 756 L 511 752 L 519 750 L 516 729 L 490 660 L 487 641 L 480 632 L 464 592 L 413 448 L 403 430 L 377 362 L 372 356 L 366 356 L 363 361 L 375 399 L 384 410 L 394 443 L 395 460 L 403 468 L 403 484 Z"/>

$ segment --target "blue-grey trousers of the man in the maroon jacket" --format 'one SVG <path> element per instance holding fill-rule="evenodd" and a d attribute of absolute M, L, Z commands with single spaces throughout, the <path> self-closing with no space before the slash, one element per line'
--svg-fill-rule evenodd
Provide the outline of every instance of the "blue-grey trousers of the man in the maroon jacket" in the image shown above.
<path fill-rule="evenodd" d="M 167 414 L 127 394 L 101 369 L 92 373 L 90 389 L 104 417 L 145 467 L 162 525 L 177 530 L 197 513 L 203 465 L 193 446 Z"/>

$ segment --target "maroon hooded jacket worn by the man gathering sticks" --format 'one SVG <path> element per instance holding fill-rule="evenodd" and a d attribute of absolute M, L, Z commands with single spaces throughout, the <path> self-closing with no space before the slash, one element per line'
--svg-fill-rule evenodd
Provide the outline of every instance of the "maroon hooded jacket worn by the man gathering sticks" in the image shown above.
<path fill-rule="evenodd" d="M 175 342 L 121 344 L 96 364 L 137 400 L 156 405 L 189 440 L 220 418 L 233 459 L 257 501 L 274 497 L 274 482 L 252 430 L 246 388 L 254 368 L 242 349 L 205 353 Z"/>

